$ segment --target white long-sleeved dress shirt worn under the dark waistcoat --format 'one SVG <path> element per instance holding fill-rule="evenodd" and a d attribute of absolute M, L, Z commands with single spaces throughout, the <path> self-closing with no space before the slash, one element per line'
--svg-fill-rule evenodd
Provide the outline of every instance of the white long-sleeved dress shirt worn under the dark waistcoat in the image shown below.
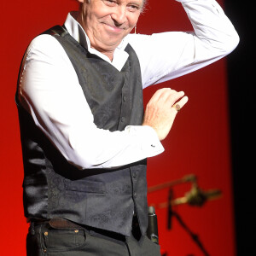
<path fill-rule="evenodd" d="M 194 32 L 129 34 L 115 49 L 113 61 L 90 48 L 90 40 L 75 19 L 67 15 L 70 35 L 90 53 L 119 71 L 125 65 L 129 43 L 140 61 L 143 88 L 205 67 L 229 54 L 239 38 L 223 9 L 214 0 L 180 0 Z M 20 74 L 19 98 L 63 156 L 79 169 L 113 168 L 163 152 L 149 126 L 127 126 L 125 131 L 98 129 L 73 65 L 61 44 L 50 35 L 32 40 Z"/>

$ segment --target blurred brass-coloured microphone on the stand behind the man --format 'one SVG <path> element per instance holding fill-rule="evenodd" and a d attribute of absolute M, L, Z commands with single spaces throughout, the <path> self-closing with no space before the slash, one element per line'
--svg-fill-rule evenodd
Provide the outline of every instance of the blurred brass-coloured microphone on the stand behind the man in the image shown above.
<path fill-rule="evenodd" d="M 222 195 L 220 189 L 209 189 L 203 191 L 200 189 L 196 183 L 193 183 L 192 189 L 185 194 L 183 197 L 179 197 L 172 201 L 172 206 L 189 204 L 190 206 L 201 207 L 206 201 L 216 199 Z"/>

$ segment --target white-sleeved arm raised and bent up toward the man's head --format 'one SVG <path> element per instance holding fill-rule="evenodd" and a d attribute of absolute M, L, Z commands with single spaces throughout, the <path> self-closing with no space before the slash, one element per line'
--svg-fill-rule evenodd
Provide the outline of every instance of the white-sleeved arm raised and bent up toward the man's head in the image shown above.
<path fill-rule="evenodd" d="M 178 0 L 177 0 L 178 1 Z M 131 34 L 143 87 L 194 72 L 228 55 L 239 42 L 234 26 L 214 0 L 179 0 L 194 32 Z"/>

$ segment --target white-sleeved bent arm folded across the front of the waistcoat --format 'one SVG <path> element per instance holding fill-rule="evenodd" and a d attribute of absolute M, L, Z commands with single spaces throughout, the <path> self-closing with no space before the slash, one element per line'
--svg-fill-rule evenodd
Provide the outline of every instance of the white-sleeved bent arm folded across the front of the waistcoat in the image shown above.
<path fill-rule="evenodd" d="M 111 168 L 163 152 L 149 126 L 106 131 L 94 124 L 77 75 L 55 38 L 41 35 L 27 49 L 20 74 L 20 103 L 74 166 Z"/>

